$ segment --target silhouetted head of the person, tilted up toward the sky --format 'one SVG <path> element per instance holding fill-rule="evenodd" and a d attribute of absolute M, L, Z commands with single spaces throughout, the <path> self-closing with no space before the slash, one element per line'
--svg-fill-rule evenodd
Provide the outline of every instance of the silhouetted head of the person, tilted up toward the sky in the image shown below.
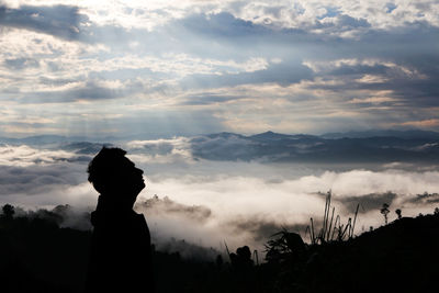
<path fill-rule="evenodd" d="M 90 161 L 87 172 L 94 189 L 109 196 L 121 196 L 121 201 L 134 204 L 137 194 L 145 188 L 144 171 L 125 157 L 121 148 L 103 147 Z"/>

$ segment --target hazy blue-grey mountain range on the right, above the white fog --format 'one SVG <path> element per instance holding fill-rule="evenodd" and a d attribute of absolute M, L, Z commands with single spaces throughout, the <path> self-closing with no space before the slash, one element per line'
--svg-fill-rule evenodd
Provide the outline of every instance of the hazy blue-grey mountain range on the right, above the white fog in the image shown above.
<path fill-rule="evenodd" d="M 191 139 L 192 154 L 210 160 L 264 160 L 297 162 L 439 161 L 439 134 L 393 132 L 368 137 L 285 135 L 267 132 L 243 136 L 219 133 Z M 383 133 L 387 134 L 387 133 Z M 399 134 L 399 136 L 396 136 Z M 425 134 L 425 137 L 423 136 Z M 436 134 L 436 136 L 434 135 Z M 360 133 L 356 133 L 360 135 Z M 333 136 L 334 138 L 328 138 Z"/>

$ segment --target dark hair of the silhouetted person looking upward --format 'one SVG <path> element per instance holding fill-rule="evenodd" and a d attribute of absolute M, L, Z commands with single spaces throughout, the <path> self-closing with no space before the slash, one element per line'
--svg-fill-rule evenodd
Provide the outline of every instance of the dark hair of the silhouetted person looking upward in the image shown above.
<path fill-rule="evenodd" d="M 126 151 L 121 148 L 102 147 L 98 155 L 89 162 L 87 172 L 89 182 L 99 193 L 104 193 L 105 188 L 117 181 Z"/>

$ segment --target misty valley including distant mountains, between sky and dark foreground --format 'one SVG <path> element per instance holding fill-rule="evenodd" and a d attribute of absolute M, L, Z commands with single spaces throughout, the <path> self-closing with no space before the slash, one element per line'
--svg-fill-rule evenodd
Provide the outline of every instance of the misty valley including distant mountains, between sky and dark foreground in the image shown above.
<path fill-rule="evenodd" d="M 184 239 L 218 251 L 224 243 L 263 251 L 282 227 L 309 240 L 309 218 L 322 221 L 328 191 L 345 222 L 359 204 L 356 235 L 384 224 L 384 203 L 391 219 L 396 209 L 416 216 L 439 206 L 439 134 L 420 131 L 101 142 L 3 137 L 0 203 L 14 205 L 16 214 L 68 204 L 60 225 L 90 229 L 87 214 L 98 193 L 86 170 L 103 145 L 127 150 L 144 170 L 147 187 L 135 210 L 145 214 L 158 249 L 178 250 L 169 244 Z"/>

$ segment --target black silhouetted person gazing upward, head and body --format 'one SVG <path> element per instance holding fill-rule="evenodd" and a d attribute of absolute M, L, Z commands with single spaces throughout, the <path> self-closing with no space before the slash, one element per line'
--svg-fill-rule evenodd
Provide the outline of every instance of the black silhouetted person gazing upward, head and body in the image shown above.
<path fill-rule="evenodd" d="M 149 229 L 133 211 L 145 188 L 143 171 L 125 154 L 103 147 L 89 164 L 89 181 L 100 196 L 91 213 L 86 292 L 154 292 Z"/>

